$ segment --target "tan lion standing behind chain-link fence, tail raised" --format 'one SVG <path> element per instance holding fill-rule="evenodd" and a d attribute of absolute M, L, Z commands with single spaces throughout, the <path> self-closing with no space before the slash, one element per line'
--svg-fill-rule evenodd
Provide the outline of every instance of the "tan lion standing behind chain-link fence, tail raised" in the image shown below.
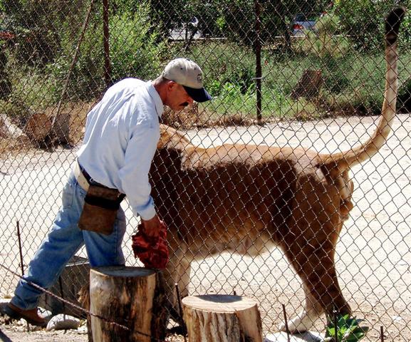
<path fill-rule="evenodd" d="M 402 16 L 397 9 L 395 16 Z M 392 14 L 391 14 L 392 16 Z M 388 18 L 393 26 L 393 19 Z M 306 331 L 320 314 L 350 314 L 338 285 L 334 254 L 343 221 L 353 208 L 348 171 L 374 155 L 387 139 L 397 97 L 396 33 L 387 29 L 387 73 L 382 116 L 373 136 L 333 155 L 303 147 L 222 145 L 201 148 L 162 125 L 150 172 L 152 195 L 169 227 L 166 279 L 187 295 L 189 265 L 223 251 L 256 255 L 281 247 L 301 277 L 306 304 L 288 322 Z"/>

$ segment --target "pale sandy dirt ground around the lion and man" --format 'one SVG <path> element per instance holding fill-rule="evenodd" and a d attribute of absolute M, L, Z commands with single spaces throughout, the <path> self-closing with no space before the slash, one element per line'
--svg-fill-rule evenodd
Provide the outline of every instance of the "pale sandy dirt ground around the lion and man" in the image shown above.
<path fill-rule="evenodd" d="M 241 142 L 303 145 L 321 152 L 347 150 L 364 142 L 375 117 L 331 118 L 306 123 L 188 130 L 199 145 Z M 53 152 L 9 155 L 0 160 L 0 264 L 19 272 L 16 220 L 21 224 L 24 265 L 36 251 L 59 205 L 59 195 L 78 147 Z M 370 332 L 363 341 L 411 341 L 411 117 L 398 115 L 387 144 L 371 160 L 353 168 L 354 209 L 338 243 L 336 265 L 343 294 Z M 137 221 L 130 209 L 128 235 Z M 138 264 L 125 238 L 128 264 Z M 85 256 L 80 251 L 80 256 Z M 11 296 L 17 277 L 0 267 L 3 297 Z M 192 268 L 192 294 L 236 294 L 259 301 L 264 333 L 274 333 L 283 320 L 281 304 L 291 318 L 301 310 L 301 283 L 283 254 L 274 249 L 261 257 L 223 253 L 198 261 Z M 316 322 L 322 331 L 324 319 Z M 170 336 L 174 341 L 181 338 Z M 78 331 L 31 331 L 26 325 L 0 321 L 1 341 L 87 341 Z M 170 339 L 170 341 L 173 341 Z"/>

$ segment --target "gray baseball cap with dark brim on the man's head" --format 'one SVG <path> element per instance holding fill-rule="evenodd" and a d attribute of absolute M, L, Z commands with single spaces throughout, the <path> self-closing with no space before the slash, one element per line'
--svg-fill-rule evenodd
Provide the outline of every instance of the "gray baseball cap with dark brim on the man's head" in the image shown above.
<path fill-rule="evenodd" d="M 182 85 L 187 94 L 196 102 L 212 99 L 204 89 L 201 68 L 188 58 L 176 58 L 170 61 L 162 72 L 162 76 Z"/>

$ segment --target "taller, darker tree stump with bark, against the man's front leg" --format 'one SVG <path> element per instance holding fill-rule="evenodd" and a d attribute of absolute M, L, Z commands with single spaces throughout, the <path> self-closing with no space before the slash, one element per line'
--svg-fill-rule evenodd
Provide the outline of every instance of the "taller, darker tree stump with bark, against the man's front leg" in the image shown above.
<path fill-rule="evenodd" d="M 150 342 L 155 279 L 155 271 L 141 267 L 91 269 L 90 321 L 93 341 Z"/>

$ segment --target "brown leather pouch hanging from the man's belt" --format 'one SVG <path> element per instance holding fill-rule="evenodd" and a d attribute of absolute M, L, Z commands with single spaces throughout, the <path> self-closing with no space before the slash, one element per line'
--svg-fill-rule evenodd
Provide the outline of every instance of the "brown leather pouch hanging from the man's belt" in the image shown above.
<path fill-rule="evenodd" d="M 90 184 L 78 227 L 110 235 L 113 233 L 115 217 L 124 197 L 118 190 Z"/>

